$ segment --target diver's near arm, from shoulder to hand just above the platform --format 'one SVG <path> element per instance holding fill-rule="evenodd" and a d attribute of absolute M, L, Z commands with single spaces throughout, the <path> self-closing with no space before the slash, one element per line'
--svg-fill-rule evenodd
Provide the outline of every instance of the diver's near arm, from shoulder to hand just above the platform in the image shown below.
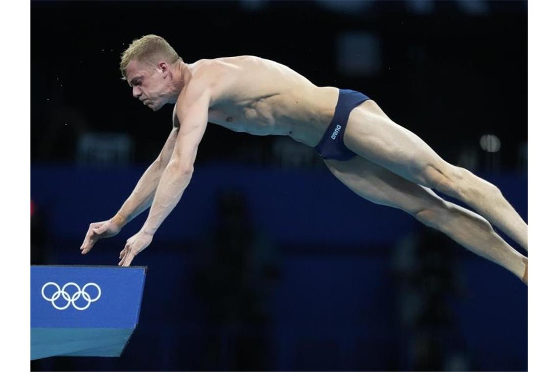
<path fill-rule="evenodd" d="M 177 117 L 181 127 L 172 156 L 159 180 L 148 219 L 141 230 L 127 240 L 119 265 L 129 266 L 132 259 L 148 247 L 155 231 L 181 199 L 194 172 L 198 144 L 206 131 L 209 105 L 208 89 L 189 86 L 179 95 Z"/>

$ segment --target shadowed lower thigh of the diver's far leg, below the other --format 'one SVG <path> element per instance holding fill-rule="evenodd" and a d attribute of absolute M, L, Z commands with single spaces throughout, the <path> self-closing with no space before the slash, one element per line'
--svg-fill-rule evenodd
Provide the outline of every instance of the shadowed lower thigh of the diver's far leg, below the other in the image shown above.
<path fill-rule="evenodd" d="M 363 157 L 356 156 L 348 161 L 325 160 L 325 163 L 345 186 L 373 203 L 395 207 L 410 214 L 444 206 L 445 201 L 432 190 Z"/>

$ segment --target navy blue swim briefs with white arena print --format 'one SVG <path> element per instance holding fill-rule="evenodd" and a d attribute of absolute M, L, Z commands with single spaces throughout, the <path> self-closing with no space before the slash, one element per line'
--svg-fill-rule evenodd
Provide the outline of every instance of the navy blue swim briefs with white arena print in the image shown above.
<path fill-rule="evenodd" d="M 368 99 L 370 98 L 358 91 L 340 89 L 332 122 L 315 146 L 323 159 L 350 160 L 356 156 L 356 153 L 344 144 L 345 125 L 347 125 L 351 110 Z"/>

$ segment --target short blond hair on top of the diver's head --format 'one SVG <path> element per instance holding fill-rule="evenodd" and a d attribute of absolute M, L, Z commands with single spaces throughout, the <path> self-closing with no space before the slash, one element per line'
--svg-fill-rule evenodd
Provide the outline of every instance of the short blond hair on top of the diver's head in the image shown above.
<path fill-rule="evenodd" d="M 159 61 L 165 61 L 169 64 L 181 60 L 177 52 L 169 45 L 167 40 L 157 35 L 145 35 L 131 42 L 120 57 L 120 73 L 122 79 L 126 80 L 126 67 L 130 61 L 150 62 L 157 64 Z"/>

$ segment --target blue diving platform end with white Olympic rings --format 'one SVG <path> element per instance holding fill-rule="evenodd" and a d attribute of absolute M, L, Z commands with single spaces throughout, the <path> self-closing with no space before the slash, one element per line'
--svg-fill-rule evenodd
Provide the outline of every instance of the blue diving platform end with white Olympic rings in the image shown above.
<path fill-rule="evenodd" d="M 120 356 L 138 325 L 146 271 L 32 266 L 31 359 Z"/>

